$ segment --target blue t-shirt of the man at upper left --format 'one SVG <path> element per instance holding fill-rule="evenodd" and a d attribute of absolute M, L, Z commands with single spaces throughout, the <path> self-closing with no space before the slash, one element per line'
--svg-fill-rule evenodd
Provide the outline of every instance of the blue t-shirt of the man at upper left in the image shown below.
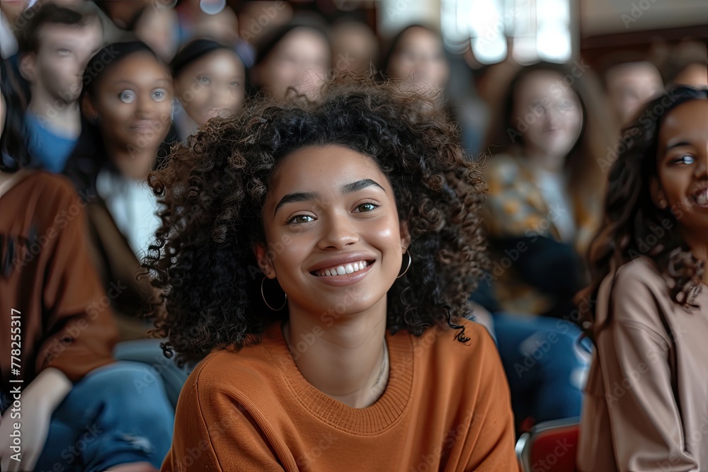
<path fill-rule="evenodd" d="M 36 115 L 29 112 L 25 115 L 25 125 L 27 125 L 30 155 L 46 171 L 55 173 L 63 171 L 79 138 L 72 139 L 55 134 L 45 128 Z"/>

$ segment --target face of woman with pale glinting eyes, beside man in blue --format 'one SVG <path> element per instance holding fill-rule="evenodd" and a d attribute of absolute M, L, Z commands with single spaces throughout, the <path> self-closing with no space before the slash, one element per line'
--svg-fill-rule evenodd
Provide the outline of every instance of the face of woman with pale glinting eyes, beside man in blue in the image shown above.
<path fill-rule="evenodd" d="M 157 149 L 172 119 L 169 73 L 147 53 L 132 54 L 105 74 L 93 107 L 101 134 L 114 149 Z"/>

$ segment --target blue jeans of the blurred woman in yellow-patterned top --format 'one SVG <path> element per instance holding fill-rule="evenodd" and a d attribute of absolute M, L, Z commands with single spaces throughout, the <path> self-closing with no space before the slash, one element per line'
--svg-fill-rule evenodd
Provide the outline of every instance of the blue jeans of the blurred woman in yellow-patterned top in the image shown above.
<path fill-rule="evenodd" d="M 520 425 L 580 416 L 590 347 L 573 323 L 545 316 L 493 315 L 494 334 Z M 589 343 L 589 341 L 588 341 Z"/>

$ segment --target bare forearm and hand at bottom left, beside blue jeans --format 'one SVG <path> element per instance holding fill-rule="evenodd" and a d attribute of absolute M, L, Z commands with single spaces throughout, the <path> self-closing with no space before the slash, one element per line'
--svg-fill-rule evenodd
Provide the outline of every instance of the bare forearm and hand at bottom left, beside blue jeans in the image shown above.
<path fill-rule="evenodd" d="M 14 384 L 19 386 L 20 384 Z M 35 468 L 49 434 L 52 413 L 72 390 L 72 382 L 59 369 L 44 369 L 17 395 L 10 393 L 11 403 L 0 423 L 0 468 L 3 471 L 31 471 Z M 12 459 L 16 450 L 11 436 L 19 423 L 21 460 Z M 17 456 L 15 456 L 17 457 Z"/>

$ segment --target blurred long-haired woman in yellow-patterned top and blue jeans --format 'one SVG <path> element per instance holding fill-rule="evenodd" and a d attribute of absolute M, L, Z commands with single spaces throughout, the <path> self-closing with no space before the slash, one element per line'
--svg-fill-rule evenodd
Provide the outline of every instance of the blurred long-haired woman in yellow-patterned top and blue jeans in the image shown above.
<path fill-rule="evenodd" d="M 576 346 L 573 295 L 586 277 L 580 254 L 598 227 L 598 161 L 611 137 L 588 74 L 548 63 L 520 69 L 486 146 L 493 263 L 473 300 L 494 314 L 518 425 L 581 408 L 588 357 Z"/>

